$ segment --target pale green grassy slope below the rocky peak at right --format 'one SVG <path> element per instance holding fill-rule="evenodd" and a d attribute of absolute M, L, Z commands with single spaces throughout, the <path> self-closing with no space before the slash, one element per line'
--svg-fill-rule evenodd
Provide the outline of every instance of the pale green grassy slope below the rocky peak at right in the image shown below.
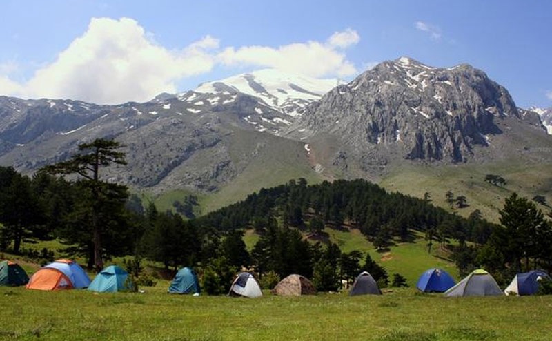
<path fill-rule="evenodd" d="M 498 221 L 498 210 L 502 209 L 504 199 L 513 192 L 529 199 L 539 194 L 547 196 L 552 202 L 552 164 L 540 163 L 526 165 L 515 161 L 483 165 L 415 165 L 404 164 L 393 169 L 380 180 L 380 185 L 391 192 L 402 192 L 418 198 L 424 193 L 431 194 L 434 205 L 449 207 L 445 200 L 447 191 L 455 196 L 466 196 L 469 207 L 455 209 L 462 216 L 479 209 L 484 218 Z M 491 185 L 484 181 L 486 174 L 497 174 L 506 180 L 504 187 Z M 540 205 L 548 211 L 549 207 Z"/>

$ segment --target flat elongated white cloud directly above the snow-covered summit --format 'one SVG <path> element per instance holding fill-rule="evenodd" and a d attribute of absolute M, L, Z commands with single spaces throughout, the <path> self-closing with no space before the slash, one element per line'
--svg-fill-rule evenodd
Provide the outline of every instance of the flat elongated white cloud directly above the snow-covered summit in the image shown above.
<path fill-rule="evenodd" d="M 337 48 L 359 41 L 357 32 L 346 30 L 335 32 L 326 43 L 308 41 L 271 48 L 268 46 L 246 46 L 239 49 L 226 48 L 219 54 L 224 65 L 252 65 L 261 68 L 275 68 L 306 76 L 351 76 L 357 73 L 355 65 L 346 59 Z"/>

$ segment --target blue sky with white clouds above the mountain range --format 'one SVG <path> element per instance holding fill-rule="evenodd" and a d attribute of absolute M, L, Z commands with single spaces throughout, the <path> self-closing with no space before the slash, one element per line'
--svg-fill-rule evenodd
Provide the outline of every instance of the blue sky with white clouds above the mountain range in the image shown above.
<path fill-rule="evenodd" d="M 547 0 L 1 0 L 0 95 L 144 102 L 264 68 L 352 81 L 469 63 L 552 107 Z"/>

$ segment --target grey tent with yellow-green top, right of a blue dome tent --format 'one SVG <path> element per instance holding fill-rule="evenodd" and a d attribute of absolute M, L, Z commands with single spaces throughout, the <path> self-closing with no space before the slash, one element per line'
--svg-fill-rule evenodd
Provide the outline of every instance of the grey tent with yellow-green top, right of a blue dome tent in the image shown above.
<path fill-rule="evenodd" d="M 504 295 L 495 279 L 487 271 L 477 269 L 444 293 L 446 297 L 455 296 L 497 296 Z"/>

